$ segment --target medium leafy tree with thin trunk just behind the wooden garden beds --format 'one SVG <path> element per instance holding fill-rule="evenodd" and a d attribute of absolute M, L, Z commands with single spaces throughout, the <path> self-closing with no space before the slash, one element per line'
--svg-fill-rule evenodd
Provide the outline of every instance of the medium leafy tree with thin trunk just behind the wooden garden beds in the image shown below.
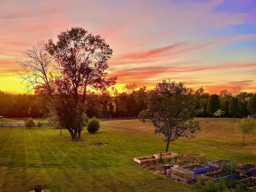
<path fill-rule="evenodd" d="M 140 112 L 139 118 L 142 122 L 152 122 L 155 134 L 164 134 L 168 152 L 170 142 L 182 136 L 194 138 L 196 130 L 200 131 L 195 115 L 194 101 L 184 83 L 163 80 L 150 91 L 148 108 Z"/>

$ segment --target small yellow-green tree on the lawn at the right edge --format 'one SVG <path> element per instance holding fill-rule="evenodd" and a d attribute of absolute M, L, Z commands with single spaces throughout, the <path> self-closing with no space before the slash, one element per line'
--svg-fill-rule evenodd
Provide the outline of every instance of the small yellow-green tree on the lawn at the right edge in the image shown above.
<path fill-rule="evenodd" d="M 242 119 L 240 122 L 235 124 L 235 129 L 244 134 L 244 139 L 247 134 L 255 134 L 256 133 L 256 119 Z M 243 139 L 243 146 L 244 146 Z"/>

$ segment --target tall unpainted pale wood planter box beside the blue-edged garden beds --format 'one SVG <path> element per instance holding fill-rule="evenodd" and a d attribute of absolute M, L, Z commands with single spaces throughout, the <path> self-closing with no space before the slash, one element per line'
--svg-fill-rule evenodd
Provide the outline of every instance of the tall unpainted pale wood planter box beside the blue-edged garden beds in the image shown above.
<path fill-rule="evenodd" d="M 181 167 L 172 167 L 171 178 L 188 183 L 194 180 L 194 172 L 186 170 Z"/>

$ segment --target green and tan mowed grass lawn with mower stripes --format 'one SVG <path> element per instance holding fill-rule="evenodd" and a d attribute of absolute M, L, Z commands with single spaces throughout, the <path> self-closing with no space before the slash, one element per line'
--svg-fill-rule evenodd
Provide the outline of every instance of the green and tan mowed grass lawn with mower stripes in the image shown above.
<path fill-rule="evenodd" d="M 256 163 L 256 137 L 234 132 L 240 119 L 198 118 L 202 131 L 192 140 L 178 139 L 169 151 L 207 158 Z M 204 123 L 209 120 L 210 123 Z M 0 122 L 1 123 L 1 122 Z M 150 123 L 139 120 L 101 122 L 96 134 L 82 132 L 84 142 L 70 142 L 67 130 L 0 128 L 0 192 L 26 192 L 36 184 L 51 192 L 186 191 L 196 188 L 158 176 L 134 157 L 164 152 L 166 143 Z M 94 146 L 103 142 L 104 146 Z"/>

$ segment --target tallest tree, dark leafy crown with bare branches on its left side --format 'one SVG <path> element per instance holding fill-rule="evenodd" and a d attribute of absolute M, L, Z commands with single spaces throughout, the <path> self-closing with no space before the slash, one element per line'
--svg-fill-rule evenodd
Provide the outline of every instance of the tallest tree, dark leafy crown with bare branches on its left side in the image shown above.
<path fill-rule="evenodd" d="M 17 59 L 16 73 L 28 82 L 28 91 L 44 94 L 53 120 L 66 128 L 72 140 L 80 137 L 88 88 L 106 90 L 116 77 L 106 78 L 112 49 L 99 35 L 80 27 L 58 35 L 58 41 L 38 42 Z M 52 62 L 52 63 L 51 63 Z"/>

